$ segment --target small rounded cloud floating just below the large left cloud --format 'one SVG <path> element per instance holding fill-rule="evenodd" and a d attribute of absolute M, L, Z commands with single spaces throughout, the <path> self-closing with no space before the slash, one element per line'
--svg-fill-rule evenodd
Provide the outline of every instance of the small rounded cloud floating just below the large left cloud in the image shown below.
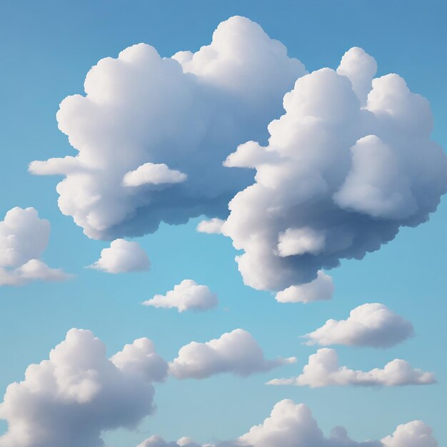
<path fill-rule="evenodd" d="M 146 271 L 151 263 L 146 251 L 139 243 L 116 239 L 109 248 L 101 251 L 101 257 L 89 268 L 105 271 L 106 273 L 129 273 L 131 271 Z"/>

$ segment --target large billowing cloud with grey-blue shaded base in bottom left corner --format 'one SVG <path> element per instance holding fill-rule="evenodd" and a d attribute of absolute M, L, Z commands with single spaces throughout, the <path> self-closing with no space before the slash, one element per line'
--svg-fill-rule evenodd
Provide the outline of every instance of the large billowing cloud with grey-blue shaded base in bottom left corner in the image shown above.
<path fill-rule="evenodd" d="M 164 380 L 166 370 L 146 338 L 109 359 L 91 331 L 71 329 L 48 360 L 6 388 L 0 418 L 8 431 L 0 446 L 104 446 L 103 431 L 133 428 L 151 413 L 151 381 Z"/>

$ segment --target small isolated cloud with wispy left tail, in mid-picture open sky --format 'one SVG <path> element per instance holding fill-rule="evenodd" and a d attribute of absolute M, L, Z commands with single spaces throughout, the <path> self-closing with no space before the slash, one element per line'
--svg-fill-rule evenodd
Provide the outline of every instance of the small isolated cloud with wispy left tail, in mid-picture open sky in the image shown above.
<path fill-rule="evenodd" d="M 211 292 L 208 286 L 201 286 L 192 279 L 184 279 L 174 286 L 173 290 L 166 295 L 156 295 L 144 306 L 176 308 L 179 312 L 184 311 L 207 311 L 219 303 L 216 293 Z"/>

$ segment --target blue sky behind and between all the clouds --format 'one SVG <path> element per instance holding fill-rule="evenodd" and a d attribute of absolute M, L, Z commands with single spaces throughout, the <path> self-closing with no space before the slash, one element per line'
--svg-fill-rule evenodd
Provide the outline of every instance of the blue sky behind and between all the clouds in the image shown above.
<path fill-rule="evenodd" d="M 363 260 L 343 260 L 332 269 L 331 301 L 281 304 L 269 291 L 244 286 L 231 240 L 196 232 L 200 218 L 181 226 L 161 224 L 156 233 L 136 239 L 151 260 L 149 272 L 112 275 L 84 268 L 109 242 L 87 238 L 71 217 L 61 214 L 56 177 L 27 171 L 31 161 L 75 154 L 57 128 L 55 114 L 66 96 L 84 93 L 86 72 L 99 59 L 116 57 L 139 42 L 166 57 L 197 51 L 233 15 L 256 21 L 308 71 L 336 69 L 345 51 L 361 46 L 376 59 L 378 75 L 398 73 L 411 91 L 430 101 L 433 139 L 445 148 L 443 2 L 2 1 L 0 8 L 0 215 L 14 206 L 37 209 L 51 222 L 44 261 L 76 275 L 61 283 L 0 288 L 2 392 L 22 380 L 29 364 L 47 358 L 73 327 L 94 331 L 109 355 L 134 338 L 151 338 L 167 360 L 190 341 L 208 341 L 240 327 L 256 338 L 266 358 L 297 356 L 298 363 L 248 378 L 168 378 L 156 385 L 156 413 L 136 431 L 106 433 L 107 445 L 133 447 L 152 434 L 168 440 L 191 436 L 199 442 L 231 439 L 261 423 L 283 398 L 306 403 L 325 433 L 344 426 L 358 441 L 378 439 L 398 424 L 421 419 L 433 428 L 440 446 L 447 443 L 445 198 L 427 223 L 403 228 L 395 240 Z M 219 307 L 177 313 L 141 306 L 184 278 L 209 286 L 219 296 Z M 298 375 L 316 351 L 303 346 L 298 336 L 371 302 L 384 303 L 411 321 L 415 336 L 388 349 L 339 346 L 341 364 L 370 370 L 404 358 L 436 373 L 438 383 L 316 389 L 263 385 L 273 377 Z M 3 430 L 6 423 L 0 425 Z"/>

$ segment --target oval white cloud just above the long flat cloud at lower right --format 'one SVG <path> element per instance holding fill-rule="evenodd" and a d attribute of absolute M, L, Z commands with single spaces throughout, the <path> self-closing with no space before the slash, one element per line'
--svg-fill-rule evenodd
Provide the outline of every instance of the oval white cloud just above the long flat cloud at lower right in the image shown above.
<path fill-rule="evenodd" d="M 307 333 L 306 344 L 373 346 L 388 348 L 413 335 L 413 325 L 380 303 L 366 303 L 351 311 L 346 320 L 328 320 Z"/>

